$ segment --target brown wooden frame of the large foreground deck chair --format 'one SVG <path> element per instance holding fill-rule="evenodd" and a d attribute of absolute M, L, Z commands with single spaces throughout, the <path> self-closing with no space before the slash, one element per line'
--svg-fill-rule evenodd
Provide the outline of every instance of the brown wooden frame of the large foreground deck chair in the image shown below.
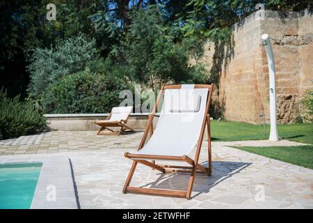
<path fill-rule="evenodd" d="M 157 102 L 154 105 L 154 108 L 152 110 L 152 113 L 149 116 L 149 120 L 147 123 L 147 126 L 145 128 L 145 132 L 143 134 L 143 138 L 141 139 L 141 144 L 138 146 L 138 151 L 143 148 L 145 141 L 147 139 L 147 134 L 150 132 L 150 135 L 153 134 L 153 118 L 155 116 L 155 113 L 157 112 L 157 106 L 161 100 L 161 97 L 166 89 L 180 89 L 181 84 L 177 85 L 166 85 L 163 86 L 158 98 Z M 209 112 L 209 105 L 211 102 L 211 95 L 214 88 L 213 84 L 195 84 L 195 89 L 208 89 L 208 96 L 207 96 L 207 105 L 205 107 L 205 113 L 202 121 L 200 136 L 198 138 L 198 144 L 197 149 L 195 152 L 195 157 L 192 160 L 187 155 L 184 156 L 168 156 L 168 155 L 143 155 L 143 154 L 131 154 L 131 153 L 125 153 L 125 157 L 133 160 L 133 163 L 131 164 L 131 169 L 129 171 L 129 174 L 127 176 L 127 180 L 125 182 L 125 185 L 123 187 L 122 192 L 124 194 L 126 193 L 134 193 L 134 194 L 150 194 L 150 195 L 157 195 L 157 196 L 166 196 L 166 197 L 181 197 L 186 199 L 191 199 L 191 192 L 193 190 L 193 183 L 195 180 L 195 174 L 208 174 L 211 175 L 212 171 L 212 164 L 211 164 L 211 130 L 210 130 L 210 116 L 208 114 Z M 209 167 L 204 167 L 201 164 L 198 163 L 199 157 L 200 157 L 200 151 L 202 146 L 202 141 L 204 137 L 204 131 L 205 131 L 205 125 L 207 125 L 207 138 L 208 138 L 208 162 Z M 142 158 L 142 160 L 141 160 Z M 152 160 L 152 162 L 147 161 Z M 162 165 L 162 164 L 156 164 L 155 160 L 178 160 L 182 162 L 186 162 L 187 164 L 190 164 L 191 166 L 174 166 L 174 165 Z M 141 163 L 146 165 L 147 167 L 151 167 L 152 169 L 157 169 L 158 171 L 161 171 L 164 174 L 168 173 L 188 173 L 191 174 L 191 177 L 189 179 L 187 190 L 161 190 L 161 189 L 154 189 L 154 188 L 143 188 L 143 187 L 130 187 L 129 184 L 131 182 L 131 178 L 134 175 L 134 171 L 137 167 L 137 164 Z"/>

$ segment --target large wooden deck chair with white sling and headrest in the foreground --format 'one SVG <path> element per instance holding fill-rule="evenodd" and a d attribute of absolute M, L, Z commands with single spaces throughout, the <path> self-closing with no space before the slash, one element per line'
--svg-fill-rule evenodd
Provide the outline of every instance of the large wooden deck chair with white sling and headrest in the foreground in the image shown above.
<path fill-rule="evenodd" d="M 125 153 L 125 157 L 133 160 L 129 175 L 125 182 L 123 193 L 150 194 L 167 197 L 191 198 L 195 174 L 211 175 L 211 136 L 209 105 L 213 84 L 166 85 L 161 89 L 157 102 L 145 128 L 141 144 L 136 153 Z M 157 106 L 164 95 L 161 114 L 155 130 L 152 121 Z M 178 102 L 178 103 L 177 103 Z M 177 105 L 178 104 L 178 105 Z M 208 167 L 198 163 L 205 126 L 208 134 Z M 150 140 L 147 135 L 150 132 Z M 195 157 L 188 156 L 196 147 Z M 189 166 L 156 164 L 162 162 L 186 162 Z M 190 173 L 186 190 L 163 190 L 144 187 L 130 187 L 131 178 L 137 164 L 161 171 L 162 173 Z"/>

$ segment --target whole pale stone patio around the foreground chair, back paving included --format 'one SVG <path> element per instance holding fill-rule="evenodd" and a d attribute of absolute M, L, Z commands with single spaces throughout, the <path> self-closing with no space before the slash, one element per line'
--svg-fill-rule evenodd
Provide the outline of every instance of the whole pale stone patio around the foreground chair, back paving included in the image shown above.
<path fill-rule="evenodd" d="M 300 145 L 292 141 L 213 142 L 212 176 L 195 178 L 191 200 L 122 194 L 131 165 L 123 154 L 137 148 L 141 135 L 47 132 L 37 141 L 31 138 L 38 135 L 20 140 L 23 145 L 17 139 L 0 141 L 0 162 L 69 159 L 81 208 L 313 208 L 312 169 L 229 147 Z M 207 142 L 200 157 L 207 164 Z M 188 178 L 186 174 L 159 174 L 138 164 L 131 185 L 184 190 Z"/>

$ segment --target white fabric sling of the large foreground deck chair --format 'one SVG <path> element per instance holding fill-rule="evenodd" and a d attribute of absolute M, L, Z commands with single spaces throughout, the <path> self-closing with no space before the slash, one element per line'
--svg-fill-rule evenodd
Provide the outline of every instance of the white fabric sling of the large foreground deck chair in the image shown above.
<path fill-rule="evenodd" d="M 157 127 L 147 144 L 135 154 L 147 155 L 188 155 L 193 151 L 200 135 L 201 124 L 207 104 L 207 89 L 191 89 L 184 92 L 181 89 L 168 89 L 164 93 L 163 106 Z M 179 93 L 182 93 L 179 95 Z M 180 104 L 174 98 L 198 98 L 198 112 L 171 112 L 171 108 Z M 187 97 L 186 97 L 187 96 Z M 194 100 L 193 98 L 193 100 Z"/>

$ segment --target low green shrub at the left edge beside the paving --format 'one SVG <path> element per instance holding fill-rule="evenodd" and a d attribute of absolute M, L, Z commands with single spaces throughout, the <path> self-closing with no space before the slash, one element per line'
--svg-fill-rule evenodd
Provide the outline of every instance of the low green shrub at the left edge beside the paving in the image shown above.
<path fill-rule="evenodd" d="M 19 96 L 10 99 L 6 91 L 0 91 L 0 139 L 11 139 L 44 130 L 45 117 L 35 112 Z"/>

